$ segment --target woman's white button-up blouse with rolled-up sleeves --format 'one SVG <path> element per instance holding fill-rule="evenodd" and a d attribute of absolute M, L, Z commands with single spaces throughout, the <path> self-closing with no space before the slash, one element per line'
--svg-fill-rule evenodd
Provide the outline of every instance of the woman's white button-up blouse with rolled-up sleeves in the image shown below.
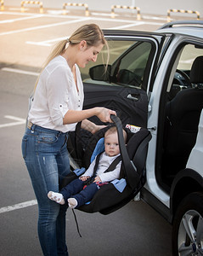
<path fill-rule="evenodd" d="M 31 123 L 62 132 L 75 130 L 76 123 L 63 125 L 63 118 L 69 109 L 82 110 L 83 106 L 81 73 L 76 64 L 75 67 L 76 82 L 67 61 L 61 55 L 44 68 L 28 115 Z"/>

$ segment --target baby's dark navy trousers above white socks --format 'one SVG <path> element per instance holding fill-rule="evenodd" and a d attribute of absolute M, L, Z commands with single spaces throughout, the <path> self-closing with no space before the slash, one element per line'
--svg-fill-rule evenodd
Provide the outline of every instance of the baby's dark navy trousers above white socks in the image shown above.
<path fill-rule="evenodd" d="M 76 178 L 74 181 L 69 183 L 65 188 L 60 190 L 60 193 L 64 196 L 65 201 L 68 198 L 75 198 L 77 201 L 77 206 L 81 207 L 86 202 L 91 201 L 93 199 L 93 195 L 98 191 L 98 185 L 96 183 L 91 183 L 87 185 L 85 189 L 83 189 L 84 183 L 81 179 Z"/>

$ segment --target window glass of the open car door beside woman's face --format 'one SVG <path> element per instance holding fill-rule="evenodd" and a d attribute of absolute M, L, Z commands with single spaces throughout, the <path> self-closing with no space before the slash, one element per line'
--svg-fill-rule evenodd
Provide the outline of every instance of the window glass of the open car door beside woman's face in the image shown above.
<path fill-rule="evenodd" d="M 145 74 L 145 71 L 150 66 L 149 62 L 152 61 L 152 58 L 149 58 L 152 49 L 151 43 L 141 41 L 110 41 L 109 47 L 110 81 L 105 81 L 105 85 L 142 88 L 144 75 L 149 75 L 149 73 Z M 91 82 L 89 68 L 106 63 L 106 59 L 107 50 L 104 49 L 99 54 L 96 63 L 89 63 L 90 65 L 82 70 L 84 82 Z"/>

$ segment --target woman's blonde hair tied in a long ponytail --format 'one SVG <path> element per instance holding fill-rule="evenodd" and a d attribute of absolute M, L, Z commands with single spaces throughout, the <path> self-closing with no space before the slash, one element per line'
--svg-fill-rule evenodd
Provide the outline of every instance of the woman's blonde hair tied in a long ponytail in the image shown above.
<path fill-rule="evenodd" d="M 109 45 L 108 45 L 106 39 L 104 38 L 104 33 L 102 32 L 102 30 L 99 28 L 98 25 L 96 25 L 96 24 L 87 24 L 87 25 L 83 25 L 83 26 L 79 27 L 76 30 L 76 32 L 73 32 L 73 34 L 70 36 L 70 38 L 67 38 L 65 40 L 60 41 L 55 46 L 55 48 L 53 49 L 51 54 L 48 56 L 47 61 L 45 61 L 45 64 L 43 65 L 42 70 L 56 56 L 62 55 L 65 52 L 66 44 L 69 43 L 70 45 L 75 45 L 75 44 L 79 44 L 82 40 L 85 40 L 87 42 L 88 47 L 97 46 L 99 44 L 104 44 L 105 47 L 107 48 L 107 61 L 106 62 L 108 64 L 109 59 L 110 59 Z M 107 70 L 107 66 L 108 65 L 106 65 L 106 70 Z M 38 77 L 37 82 L 35 84 L 35 89 L 37 87 L 38 80 L 39 80 L 39 77 Z"/>

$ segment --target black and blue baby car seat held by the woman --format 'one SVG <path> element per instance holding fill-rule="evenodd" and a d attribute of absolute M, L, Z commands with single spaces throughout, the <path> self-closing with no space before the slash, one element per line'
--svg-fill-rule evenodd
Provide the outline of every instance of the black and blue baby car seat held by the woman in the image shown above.
<path fill-rule="evenodd" d="M 118 132 L 122 161 L 120 177 L 116 181 L 104 184 L 93 196 L 91 202 L 77 208 L 82 212 L 100 212 L 102 214 L 115 212 L 117 209 L 126 205 L 127 202 L 131 201 L 145 183 L 145 160 L 149 140 L 151 139 L 150 132 L 145 128 L 141 128 L 136 133 L 131 132 L 129 129 L 125 129 L 127 131 L 126 145 L 123 138 L 121 120 L 116 115 L 111 115 L 111 119 L 116 125 Z M 104 142 L 99 139 L 104 137 L 104 132 L 109 128 L 110 126 L 102 129 L 89 140 L 87 148 L 83 152 L 82 166 L 87 168 L 90 164 L 91 157 L 93 160 L 95 154 L 99 154 L 99 151 L 104 151 Z M 91 152 L 92 147 L 93 151 Z M 73 179 L 82 175 L 82 172 L 84 171 L 85 168 L 81 168 L 71 172 L 64 178 L 60 184 L 60 188 L 63 188 Z"/>

